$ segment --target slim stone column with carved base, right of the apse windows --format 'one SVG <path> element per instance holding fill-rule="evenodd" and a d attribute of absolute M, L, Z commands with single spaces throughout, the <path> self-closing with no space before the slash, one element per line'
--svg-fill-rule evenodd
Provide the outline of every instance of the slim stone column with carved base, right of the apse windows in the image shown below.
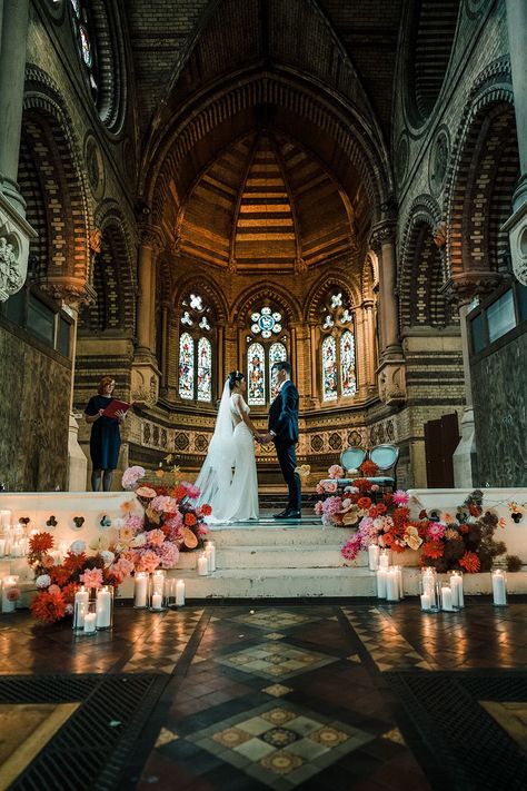
<path fill-rule="evenodd" d="M 395 226 L 390 220 L 374 227 L 371 247 L 379 259 L 381 353 L 377 368 L 379 396 L 385 404 L 406 401 L 406 370 L 399 343 Z"/>

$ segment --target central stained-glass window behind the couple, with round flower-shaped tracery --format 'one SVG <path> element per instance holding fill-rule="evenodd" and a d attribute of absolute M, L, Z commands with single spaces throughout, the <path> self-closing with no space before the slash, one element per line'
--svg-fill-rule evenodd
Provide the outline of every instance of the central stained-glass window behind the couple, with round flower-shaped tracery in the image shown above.
<path fill-rule="evenodd" d="M 247 403 L 250 406 L 266 406 L 277 394 L 271 369 L 274 363 L 287 359 L 287 335 L 281 335 L 281 313 L 269 305 L 255 310 L 250 320 L 251 334 L 247 336 Z"/>

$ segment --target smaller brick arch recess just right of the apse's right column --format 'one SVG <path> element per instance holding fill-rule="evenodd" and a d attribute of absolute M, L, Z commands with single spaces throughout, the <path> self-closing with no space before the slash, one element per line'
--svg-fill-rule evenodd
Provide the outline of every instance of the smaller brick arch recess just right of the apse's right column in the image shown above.
<path fill-rule="evenodd" d="M 434 239 L 439 207 L 435 201 L 414 204 L 405 228 L 399 269 L 399 324 L 401 328 L 441 327 L 451 323 L 444 285 L 445 265 Z"/>

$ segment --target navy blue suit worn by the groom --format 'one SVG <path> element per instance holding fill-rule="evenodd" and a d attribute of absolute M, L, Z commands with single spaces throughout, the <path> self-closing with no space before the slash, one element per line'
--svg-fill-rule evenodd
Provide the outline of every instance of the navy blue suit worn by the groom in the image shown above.
<path fill-rule="evenodd" d="M 286 379 L 269 409 L 269 431 L 275 433 L 281 474 L 289 490 L 289 511 L 301 511 L 300 476 L 297 466 L 298 442 L 298 390 L 290 379 Z"/>

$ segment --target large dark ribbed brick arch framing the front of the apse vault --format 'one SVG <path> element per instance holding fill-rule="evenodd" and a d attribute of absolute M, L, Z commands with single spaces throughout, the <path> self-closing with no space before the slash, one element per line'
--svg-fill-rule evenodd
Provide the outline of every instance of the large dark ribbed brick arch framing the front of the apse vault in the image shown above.
<path fill-rule="evenodd" d="M 187 107 L 185 116 L 175 119 L 171 130 L 156 151 L 156 164 L 145 186 L 157 223 L 169 198 L 171 180 L 191 151 L 232 116 L 257 105 L 284 108 L 301 119 L 302 123 L 309 123 L 330 137 L 356 171 L 358 180 L 365 185 L 371 211 L 377 210 L 390 191 L 391 176 L 385 151 L 380 144 L 376 146 L 371 140 L 371 132 L 361 115 L 350 106 L 337 109 L 308 80 L 274 71 L 251 75 L 243 80 L 237 76 L 230 83 L 218 86 L 207 103 L 192 108 L 192 111 Z M 350 127 L 354 134 L 350 134 Z"/>

